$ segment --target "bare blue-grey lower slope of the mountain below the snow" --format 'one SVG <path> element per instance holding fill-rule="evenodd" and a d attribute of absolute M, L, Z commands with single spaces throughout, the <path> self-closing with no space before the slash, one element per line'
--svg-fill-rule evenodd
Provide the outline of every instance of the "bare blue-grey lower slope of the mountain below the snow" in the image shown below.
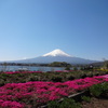
<path fill-rule="evenodd" d="M 40 56 L 31 59 L 21 60 L 23 63 L 39 63 L 39 64 L 48 64 L 53 62 L 66 62 L 70 64 L 92 64 L 95 60 L 83 59 L 79 57 L 64 57 L 64 56 Z"/>

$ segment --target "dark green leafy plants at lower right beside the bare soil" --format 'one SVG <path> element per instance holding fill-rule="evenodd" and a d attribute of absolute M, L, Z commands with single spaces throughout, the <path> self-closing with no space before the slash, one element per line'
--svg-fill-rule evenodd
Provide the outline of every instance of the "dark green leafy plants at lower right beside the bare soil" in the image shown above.
<path fill-rule="evenodd" d="M 91 99 L 93 97 L 99 99 L 108 98 L 108 82 L 95 84 L 87 91 L 90 94 L 81 96 L 80 102 L 76 102 L 72 98 L 65 98 L 60 103 L 58 103 L 57 100 L 53 100 L 48 104 L 48 108 L 83 108 L 81 103 L 91 103 Z"/>

